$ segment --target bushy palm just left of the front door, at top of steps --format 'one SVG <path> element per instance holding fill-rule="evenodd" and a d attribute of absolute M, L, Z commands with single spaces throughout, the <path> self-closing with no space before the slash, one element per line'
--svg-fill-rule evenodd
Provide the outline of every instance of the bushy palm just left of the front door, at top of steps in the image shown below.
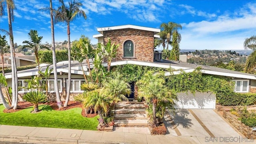
<path fill-rule="evenodd" d="M 112 75 L 114 78 L 110 77 L 104 83 L 104 88 L 108 95 L 113 98 L 112 106 L 114 106 L 118 102 L 128 100 L 126 94 L 130 95 L 131 89 L 128 82 L 126 82 L 127 80 L 120 73 L 114 72 Z"/>

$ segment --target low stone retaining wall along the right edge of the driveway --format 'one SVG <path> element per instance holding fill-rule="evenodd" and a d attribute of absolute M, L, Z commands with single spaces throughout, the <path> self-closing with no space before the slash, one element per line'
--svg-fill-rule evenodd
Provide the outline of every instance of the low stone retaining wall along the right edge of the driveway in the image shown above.
<path fill-rule="evenodd" d="M 246 138 L 256 139 L 256 131 L 252 131 L 252 128 L 243 124 L 238 117 L 234 116 L 230 112 L 223 112 L 223 117 L 228 120 L 237 130 L 239 130 Z"/>

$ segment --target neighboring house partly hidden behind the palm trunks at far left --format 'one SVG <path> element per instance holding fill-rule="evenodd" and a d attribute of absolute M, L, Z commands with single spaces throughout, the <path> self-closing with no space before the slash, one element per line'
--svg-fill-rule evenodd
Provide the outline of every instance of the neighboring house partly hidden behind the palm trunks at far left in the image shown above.
<path fill-rule="evenodd" d="M 28 66 L 32 64 L 36 64 L 35 56 L 26 56 L 22 53 L 15 53 L 16 66 Z M 11 67 L 11 57 L 10 54 L 4 54 L 4 68 Z M 2 69 L 2 60 L 0 58 L 0 69 Z"/>

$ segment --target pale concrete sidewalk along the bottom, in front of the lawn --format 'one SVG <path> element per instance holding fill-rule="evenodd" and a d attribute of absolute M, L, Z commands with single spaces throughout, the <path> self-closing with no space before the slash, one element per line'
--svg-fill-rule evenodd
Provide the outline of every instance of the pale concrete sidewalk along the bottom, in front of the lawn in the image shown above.
<path fill-rule="evenodd" d="M 0 125 L 0 142 L 44 144 L 198 144 L 204 138 Z"/>

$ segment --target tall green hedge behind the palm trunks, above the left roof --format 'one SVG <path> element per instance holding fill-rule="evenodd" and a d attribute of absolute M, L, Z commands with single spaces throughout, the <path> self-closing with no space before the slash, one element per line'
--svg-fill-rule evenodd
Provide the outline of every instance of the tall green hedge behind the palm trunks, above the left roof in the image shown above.
<path fill-rule="evenodd" d="M 39 62 L 52 64 L 52 50 L 42 50 L 38 52 Z M 67 50 L 56 50 L 56 62 L 68 60 Z"/>

